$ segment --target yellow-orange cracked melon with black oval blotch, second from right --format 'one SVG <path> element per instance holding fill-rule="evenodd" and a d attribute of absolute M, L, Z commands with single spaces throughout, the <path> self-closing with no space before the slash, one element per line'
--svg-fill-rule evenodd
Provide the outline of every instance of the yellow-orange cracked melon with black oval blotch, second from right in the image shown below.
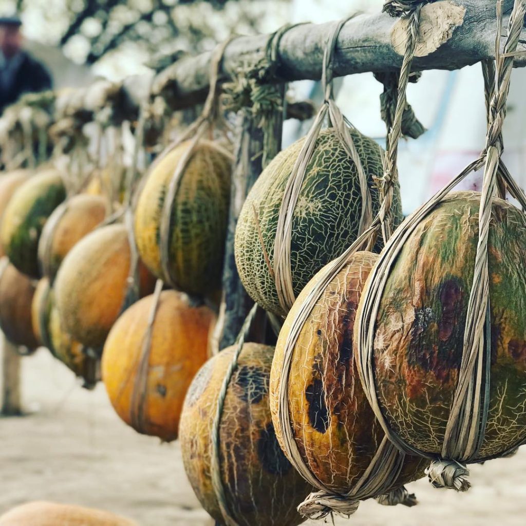
<path fill-rule="evenodd" d="M 299 452 L 318 480 L 336 493 L 355 487 L 384 437 L 352 352 L 358 302 L 377 259 L 372 252 L 356 252 L 332 279 L 300 330 L 289 369 L 289 416 Z M 290 309 L 272 361 L 270 409 L 280 443 L 278 407 L 285 343 L 322 272 L 309 281 Z M 428 464 L 406 457 L 396 486 L 423 477 Z"/>

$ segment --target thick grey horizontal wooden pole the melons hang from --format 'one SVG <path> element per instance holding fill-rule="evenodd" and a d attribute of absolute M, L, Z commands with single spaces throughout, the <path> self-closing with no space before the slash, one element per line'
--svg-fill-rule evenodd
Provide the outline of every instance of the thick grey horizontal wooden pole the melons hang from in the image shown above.
<path fill-rule="evenodd" d="M 495 4 L 495 0 L 441 0 L 424 6 L 422 21 L 427 25 L 413 69 L 459 69 L 492 58 L 497 34 Z M 505 32 L 513 0 L 504 0 L 503 6 Z M 335 76 L 399 68 L 403 24 L 403 20 L 385 13 L 350 19 L 338 38 Z M 321 77 L 323 44 L 330 26 L 299 25 L 281 38 L 276 82 Z M 231 78 L 243 61 L 260 57 L 267 39 L 268 35 L 234 39 L 225 52 L 221 80 Z M 526 46 L 520 44 L 519 49 L 526 50 Z M 208 52 L 181 58 L 157 75 L 153 93 L 168 98 L 174 109 L 202 102 L 208 91 L 210 56 Z M 516 67 L 525 65 L 525 58 L 515 61 Z"/>

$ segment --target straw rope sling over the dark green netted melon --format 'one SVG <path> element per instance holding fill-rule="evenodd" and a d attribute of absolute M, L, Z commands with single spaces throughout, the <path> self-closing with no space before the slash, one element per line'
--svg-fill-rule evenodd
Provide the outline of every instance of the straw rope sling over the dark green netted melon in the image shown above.
<path fill-rule="evenodd" d="M 340 112 L 335 103 L 332 93 L 332 59 L 336 47 L 338 35 L 343 25 L 350 19 L 349 17 L 333 25 L 327 38 L 325 51 L 323 53 L 322 77 L 324 100 L 318 115 L 312 124 L 304 144 L 300 150 L 296 163 L 292 168 L 290 177 L 285 187 L 285 193 L 279 210 L 276 239 L 274 244 L 274 278 L 276 290 L 281 307 L 287 312 L 294 304 L 296 299 L 294 287 L 292 284 L 292 271 L 290 268 L 290 242 L 292 236 L 292 219 L 294 210 L 298 202 L 302 184 L 305 179 L 307 166 L 312 157 L 316 146 L 319 132 L 326 117 L 329 120 L 329 126 L 333 127 L 340 139 L 340 142 L 347 151 L 349 157 L 353 160 L 358 171 L 360 181 L 362 210 L 360 217 L 360 226 L 358 235 L 362 234 L 372 220 L 371 196 L 367 186 L 367 176 L 361 164 L 358 151 L 349 133 L 348 123 Z"/>

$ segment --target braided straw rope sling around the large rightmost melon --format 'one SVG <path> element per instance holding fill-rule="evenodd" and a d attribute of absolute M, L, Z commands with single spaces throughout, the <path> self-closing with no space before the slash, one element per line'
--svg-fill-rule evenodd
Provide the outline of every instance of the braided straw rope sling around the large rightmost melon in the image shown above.
<path fill-rule="evenodd" d="M 486 146 L 480 157 L 470 163 L 457 177 L 426 204 L 422 205 L 390 237 L 377 265 L 371 271 L 369 286 L 363 292 L 362 310 L 358 324 L 358 370 L 363 388 L 376 418 L 386 436 L 400 451 L 428 457 L 432 460 L 427 474 L 435 487 L 466 491 L 469 471 L 466 463 L 476 461 L 484 441 L 489 412 L 489 387 L 491 363 L 490 299 L 488 273 L 488 237 L 493 196 L 508 188 L 510 194 L 524 208 L 526 195 L 515 183 L 501 160 L 503 149 L 502 125 L 506 113 L 506 99 L 510 87 L 513 58 L 526 13 L 526 0 L 515 0 L 509 21 L 504 53 L 500 53 L 499 38 L 502 24 L 502 1 L 497 3 L 498 31 L 496 42 L 496 67 L 483 62 L 485 90 L 488 108 Z M 494 73 L 496 71 L 496 82 Z M 464 329 L 462 359 L 453 403 L 447 421 L 440 455 L 424 452 L 407 443 L 393 431 L 383 416 L 376 390 L 374 359 L 374 329 L 380 300 L 389 277 L 389 271 L 397 259 L 404 242 L 418 224 L 441 203 L 444 197 L 468 174 L 484 167 L 483 186 L 479 208 L 479 237 L 474 261 L 473 285 L 470 291 L 466 327 Z M 513 450 L 514 448 L 511 448 Z M 510 450 L 510 451 L 511 451 Z M 504 452 L 505 454 L 506 452 Z"/>

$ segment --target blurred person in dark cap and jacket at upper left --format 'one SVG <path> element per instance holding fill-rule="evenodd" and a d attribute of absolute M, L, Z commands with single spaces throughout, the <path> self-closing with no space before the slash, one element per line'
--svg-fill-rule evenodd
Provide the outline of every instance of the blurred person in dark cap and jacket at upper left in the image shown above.
<path fill-rule="evenodd" d="M 0 16 L 0 114 L 22 94 L 53 84 L 47 68 L 22 49 L 21 25 L 17 16 Z"/>

